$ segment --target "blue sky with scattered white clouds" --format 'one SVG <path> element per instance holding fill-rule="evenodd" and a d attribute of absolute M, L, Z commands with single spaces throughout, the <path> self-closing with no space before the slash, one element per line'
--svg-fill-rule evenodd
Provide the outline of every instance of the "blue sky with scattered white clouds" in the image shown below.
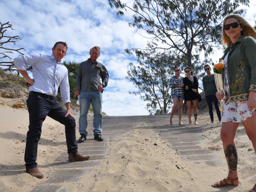
<path fill-rule="evenodd" d="M 25 48 L 24 54 L 51 54 L 55 42 L 66 41 L 69 50 L 64 60 L 82 62 L 89 58 L 91 47 L 100 46 L 98 61 L 110 76 L 102 111 L 111 116 L 148 114 L 146 103 L 128 93 L 136 88 L 125 79 L 129 63 L 136 63 L 136 58 L 124 49 L 144 48 L 147 43 L 128 26 L 133 20 L 131 13 L 118 17 L 107 0 L 1 0 L 0 7 L 0 21 L 13 25 L 15 30 L 9 30 L 8 35 L 19 35 L 15 48 Z M 244 15 L 253 26 L 255 7 L 256 2 L 251 2 Z M 213 60 L 217 61 L 221 52 L 215 55 Z"/>

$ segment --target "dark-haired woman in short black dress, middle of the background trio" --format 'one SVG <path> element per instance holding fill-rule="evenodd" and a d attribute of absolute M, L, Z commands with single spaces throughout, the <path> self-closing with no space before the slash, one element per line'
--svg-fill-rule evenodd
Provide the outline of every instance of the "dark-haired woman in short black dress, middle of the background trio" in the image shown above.
<path fill-rule="evenodd" d="M 184 82 L 184 101 L 187 105 L 187 117 L 189 119 L 189 125 L 193 125 L 191 121 L 191 109 L 193 105 L 195 125 L 197 125 L 197 103 L 198 103 L 198 79 L 193 76 L 192 69 L 187 66 L 184 69 L 187 77 L 183 78 Z"/>

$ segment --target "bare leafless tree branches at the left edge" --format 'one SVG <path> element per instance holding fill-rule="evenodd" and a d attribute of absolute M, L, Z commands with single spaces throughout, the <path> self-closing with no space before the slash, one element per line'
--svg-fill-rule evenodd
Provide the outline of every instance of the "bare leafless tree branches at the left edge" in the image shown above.
<path fill-rule="evenodd" d="M 4 61 L 0 61 L 0 66 L 4 66 L 3 70 L 5 72 L 14 72 L 17 70 L 14 65 L 13 59 L 10 55 L 13 54 L 13 52 L 17 52 L 21 55 L 24 55 L 20 51 L 25 50 L 25 49 L 24 48 L 18 48 L 18 49 L 9 48 L 8 45 L 10 43 L 13 43 L 15 45 L 15 42 L 17 42 L 17 40 L 20 40 L 20 38 L 18 35 L 15 35 L 15 36 L 6 35 L 5 33 L 8 29 L 13 30 L 12 25 L 9 24 L 9 22 L 7 22 L 7 23 L 0 22 L 0 59 L 4 59 Z M 32 71 L 31 66 L 28 66 L 27 70 Z M 18 71 L 17 71 L 17 73 L 19 74 Z"/>

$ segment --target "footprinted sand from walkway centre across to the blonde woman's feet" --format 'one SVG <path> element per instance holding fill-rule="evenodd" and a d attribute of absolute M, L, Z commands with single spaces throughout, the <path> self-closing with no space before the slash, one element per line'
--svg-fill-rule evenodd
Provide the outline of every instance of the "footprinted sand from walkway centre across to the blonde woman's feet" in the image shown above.
<path fill-rule="evenodd" d="M 252 144 L 243 126 L 239 127 L 236 138 L 240 185 L 223 189 L 211 187 L 211 183 L 226 177 L 227 166 L 219 137 L 220 126 L 208 126 L 207 119 L 207 115 L 199 117 L 201 126 L 205 127 L 203 135 L 209 138 L 201 146 L 217 153 L 221 166 L 208 166 L 204 161 L 182 160 L 182 156 L 171 150 L 155 130 L 134 129 L 110 142 L 107 159 L 95 169 L 95 181 L 85 191 L 247 192 L 256 182 L 256 157 L 254 151 L 248 151 L 252 149 Z"/>

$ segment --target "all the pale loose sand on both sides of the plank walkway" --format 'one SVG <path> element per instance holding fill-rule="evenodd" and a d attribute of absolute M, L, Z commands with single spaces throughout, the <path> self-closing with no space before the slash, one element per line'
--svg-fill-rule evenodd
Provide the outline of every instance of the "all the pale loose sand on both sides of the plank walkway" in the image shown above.
<path fill-rule="evenodd" d="M 66 150 L 64 126 L 51 118 L 46 118 L 43 124 L 37 163 L 45 178 L 39 180 L 27 174 L 24 167 L 28 111 L 13 109 L 3 102 L 0 111 L 0 192 L 28 192 L 51 176 L 51 165 Z M 78 112 L 73 114 L 78 124 Z M 91 121 L 92 114 L 89 114 L 89 126 Z M 216 189 L 211 183 L 226 177 L 228 170 L 219 136 L 220 124 L 209 126 L 208 114 L 200 114 L 200 111 L 198 122 L 204 128 L 202 135 L 207 138 L 201 142 L 201 147 L 214 151 L 221 166 L 182 159 L 157 130 L 147 129 L 147 126 L 136 129 L 135 126 L 108 141 L 108 155 L 100 166 L 93 167 L 82 179 L 62 185 L 72 192 L 247 192 L 256 183 L 256 157 L 243 126 L 239 126 L 235 139 L 240 184 L 235 188 Z M 78 128 L 76 136 L 79 137 Z"/>

